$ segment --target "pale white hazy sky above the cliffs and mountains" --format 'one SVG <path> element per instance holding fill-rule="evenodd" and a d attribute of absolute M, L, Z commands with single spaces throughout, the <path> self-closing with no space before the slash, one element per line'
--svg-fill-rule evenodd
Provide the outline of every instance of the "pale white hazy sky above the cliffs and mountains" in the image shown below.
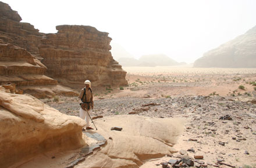
<path fill-rule="evenodd" d="M 40 32 L 61 24 L 109 32 L 135 58 L 166 54 L 193 63 L 256 25 L 255 0 L 0 0 Z"/>

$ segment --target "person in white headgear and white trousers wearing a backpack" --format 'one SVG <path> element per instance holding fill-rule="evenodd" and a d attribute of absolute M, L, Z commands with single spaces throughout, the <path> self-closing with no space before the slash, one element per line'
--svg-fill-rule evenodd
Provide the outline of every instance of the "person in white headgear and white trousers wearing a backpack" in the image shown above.
<path fill-rule="evenodd" d="M 84 84 L 86 86 L 81 89 L 79 95 L 79 103 L 81 106 L 79 110 L 79 116 L 81 119 L 86 118 L 86 130 L 93 130 L 93 128 L 89 126 L 89 111 L 90 109 L 93 109 L 94 105 L 93 92 L 91 91 L 91 82 L 89 80 L 86 80 Z"/>

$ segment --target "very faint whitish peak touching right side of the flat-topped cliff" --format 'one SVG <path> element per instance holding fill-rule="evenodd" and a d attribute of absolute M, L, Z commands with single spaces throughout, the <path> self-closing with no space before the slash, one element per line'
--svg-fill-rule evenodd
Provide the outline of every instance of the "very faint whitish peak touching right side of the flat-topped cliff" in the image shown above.
<path fill-rule="evenodd" d="M 119 60 L 120 58 L 133 58 L 129 52 L 125 50 L 118 43 L 111 42 L 111 53 L 114 60 Z"/>

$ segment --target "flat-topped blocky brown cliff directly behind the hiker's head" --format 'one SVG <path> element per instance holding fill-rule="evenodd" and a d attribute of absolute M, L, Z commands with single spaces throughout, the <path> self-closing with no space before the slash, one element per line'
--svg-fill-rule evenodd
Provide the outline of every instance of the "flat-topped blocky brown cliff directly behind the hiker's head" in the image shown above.
<path fill-rule="evenodd" d="M 58 25 L 58 33 L 42 39 L 40 55 L 47 74 L 63 85 L 127 85 L 126 72 L 111 56 L 108 33 L 84 25 Z"/>

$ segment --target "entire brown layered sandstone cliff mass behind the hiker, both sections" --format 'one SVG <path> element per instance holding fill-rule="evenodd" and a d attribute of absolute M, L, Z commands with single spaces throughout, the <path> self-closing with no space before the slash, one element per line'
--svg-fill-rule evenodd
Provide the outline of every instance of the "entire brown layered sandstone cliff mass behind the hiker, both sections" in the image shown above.
<path fill-rule="evenodd" d="M 0 39 L 4 50 L 0 53 L 0 83 L 14 82 L 38 98 L 54 94 L 77 96 L 48 76 L 73 88 L 83 86 L 85 79 L 90 79 L 93 86 L 127 85 L 126 72 L 109 52 L 108 33 L 89 26 L 61 25 L 57 26 L 57 34 L 43 34 L 20 20 L 16 11 L 0 2 Z M 42 57 L 47 66 L 40 62 Z"/>

